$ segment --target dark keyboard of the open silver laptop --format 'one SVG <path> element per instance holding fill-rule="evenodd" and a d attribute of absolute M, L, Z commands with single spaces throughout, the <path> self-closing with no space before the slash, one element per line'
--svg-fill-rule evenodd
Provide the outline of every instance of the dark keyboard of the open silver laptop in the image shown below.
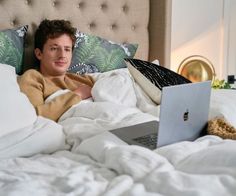
<path fill-rule="evenodd" d="M 133 140 L 144 146 L 148 146 L 151 149 L 155 149 L 157 145 L 157 133 L 151 133 L 149 135 L 137 137 Z"/>

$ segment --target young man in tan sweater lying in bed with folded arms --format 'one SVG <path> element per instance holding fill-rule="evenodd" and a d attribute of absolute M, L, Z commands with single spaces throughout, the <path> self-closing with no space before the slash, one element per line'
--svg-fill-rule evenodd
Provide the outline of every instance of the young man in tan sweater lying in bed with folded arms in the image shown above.
<path fill-rule="evenodd" d="M 18 83 L 40 116 L 57 121 L 72 105 L 91 97 L 94 84 L 89 76 L 67 73 L 75 43 L 75 28 L 65 20 L 43 20 L 35 33 L 35 56 L 39 70 L 30 69 Z M 60 89 L 69 89 L 49 102 Z"/>

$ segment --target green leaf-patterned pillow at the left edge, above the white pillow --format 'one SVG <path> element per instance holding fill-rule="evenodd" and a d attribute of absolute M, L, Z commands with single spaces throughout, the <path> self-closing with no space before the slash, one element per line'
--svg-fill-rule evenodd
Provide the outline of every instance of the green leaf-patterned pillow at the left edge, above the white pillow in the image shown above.
<path fill-rule="evenodd" d="M 28 26 L 0 31 L 0 63 L 8 64 L 16 69 L 16 73 L 23 71 L 24 38 Z"/>

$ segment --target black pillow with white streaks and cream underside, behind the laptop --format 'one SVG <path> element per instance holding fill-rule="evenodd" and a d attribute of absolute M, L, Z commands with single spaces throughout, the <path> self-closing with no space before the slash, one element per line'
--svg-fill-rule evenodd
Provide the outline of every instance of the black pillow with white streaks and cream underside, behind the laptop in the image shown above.
<path fill-rule="evenodd" d="M 183 76 L 154 63 L 139 59 L 125 59 L 125 61 L 135 81 L 157 104 L 160 104 L 163 87 L 191 83 Z"/>

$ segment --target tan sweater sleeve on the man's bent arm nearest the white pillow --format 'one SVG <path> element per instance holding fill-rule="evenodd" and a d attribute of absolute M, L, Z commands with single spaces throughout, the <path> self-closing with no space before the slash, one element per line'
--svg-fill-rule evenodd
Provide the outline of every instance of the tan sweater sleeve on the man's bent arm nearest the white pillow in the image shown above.
<path fill-rule="evenodd" d="M 44 79 L 37 71 L 28 71 L 18 78 L 20 89 L 27 95 L 38 115 L 57 121 L 72 105 L 81 99 L 73 92 L 67 92 L 45 103 Z M 53 92 L 53 91 L 52 91 Z"/>

